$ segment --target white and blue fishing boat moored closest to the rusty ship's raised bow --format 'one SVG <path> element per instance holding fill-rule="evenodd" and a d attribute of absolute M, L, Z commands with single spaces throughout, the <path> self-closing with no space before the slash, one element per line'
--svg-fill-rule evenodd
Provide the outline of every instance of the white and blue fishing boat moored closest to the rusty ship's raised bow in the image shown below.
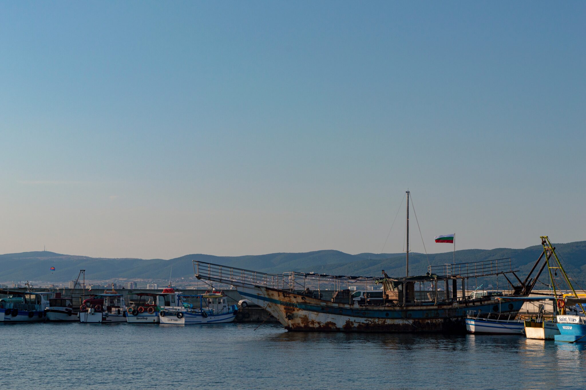
<path fill-rule="evenodd" d="M 228 305 L 222 291 L 209 291 L 201 295 L 180 295 L 177 306 L 166 306 L 159 312 L 161 324 L 218 324 L 231 323 L 236 318 L 238 306 Z M 184 301 L 185 298 L 199 298 L 199 307 Z"/>

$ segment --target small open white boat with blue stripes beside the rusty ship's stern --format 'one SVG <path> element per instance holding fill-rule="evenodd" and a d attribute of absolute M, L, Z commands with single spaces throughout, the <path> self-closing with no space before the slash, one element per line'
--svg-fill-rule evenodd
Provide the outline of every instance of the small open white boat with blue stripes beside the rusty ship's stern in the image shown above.
<path fill-rule="evenodd" d="M 503 313 L 482 313 L 469 310 L 466 313 L 466 331 L 469 333 L 486 334 L 523 334 L 523 320 L 517 320 L 515 315 Z"/>

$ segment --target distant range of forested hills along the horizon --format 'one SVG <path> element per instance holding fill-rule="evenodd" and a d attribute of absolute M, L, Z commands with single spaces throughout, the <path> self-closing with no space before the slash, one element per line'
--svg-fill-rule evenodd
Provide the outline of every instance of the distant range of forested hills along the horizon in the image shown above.
<path fill-rule="evenodd" d="M 564 266 L 576 282 L 586 286 L 586 241 L 554 244 Z M 540 245 L 525 249 L 467 249 L 456 251 L 456 263 L 478 262 L 510 257 L 519 277 L 529 272 L 541 254 Z M 410 253 L 410 274 L 425 274 L 428 259 L 432 265 L 453 263 L 453 252 Z M 151 279 L 168 280 L 193 277 L 192 260 L 268 273 L 287 271 L 329 273 L 336 275 L 380 276 L 385 270 L 390 276 L 405 274 L 404 253 L 359 253 L 349 255 L 338 250 L 318 250 L 305 253 L 270 253 L 258 256 L 186 255 L 175 259 L 101 259 L 87 256 L 61 255 L 53 252 L 23 252 L 0 255 L 0 282 L 36 280 L 66 282 L 86 270 L 86 280 Z M 55 267 L 54 271 L 50 267 Z M 541 277 L 543 280 L 543 277 Z"/>

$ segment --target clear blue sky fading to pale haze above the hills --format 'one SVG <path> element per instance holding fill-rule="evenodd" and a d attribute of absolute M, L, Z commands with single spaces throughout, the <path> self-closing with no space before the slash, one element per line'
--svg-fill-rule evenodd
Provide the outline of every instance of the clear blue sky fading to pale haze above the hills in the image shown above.
<path fill-rule="evenodd" d="M 407 188 L 428 252 L 584 240 L 585 16 L 4 2 L 0 252 L 401 252 Z"/>

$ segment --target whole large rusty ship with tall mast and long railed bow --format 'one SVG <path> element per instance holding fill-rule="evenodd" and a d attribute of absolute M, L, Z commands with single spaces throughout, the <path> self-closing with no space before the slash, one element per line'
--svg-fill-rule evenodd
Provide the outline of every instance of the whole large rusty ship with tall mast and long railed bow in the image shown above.
<path fill-rule="evenodd" d="M 270 274 L 195 260 L 193 270 L 199 280 L 236 287 L 241 296 L 265 308 L 290 331 L 464 333 L 470 310 L 516 316 L 523 301 L 499 298 L 529 296 L 545 266 L 530 277 L 543 258 L 541 253 L 524 280 L 517 276 L 510 258 L 430 265 L 424 275 L 409 276 L 408 254 L 407 211 L 404 277 L 390 277 L 384 270 L 379 277 Z M 499 276 L 507 281 L 504 288 L 483 293 L 473 289 L 479 279 L 492 281 Z"/>

